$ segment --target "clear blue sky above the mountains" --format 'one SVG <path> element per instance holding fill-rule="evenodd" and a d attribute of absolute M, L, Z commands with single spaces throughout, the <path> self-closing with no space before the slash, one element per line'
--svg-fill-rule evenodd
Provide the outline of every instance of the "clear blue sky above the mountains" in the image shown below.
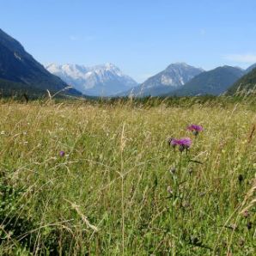
<path fill-rule="evenodd" d="M 0 27 L 42 64 L 111 62 L 143 82 L 174 62 L 256 63 L 255 0 L 0 3 Z"/>

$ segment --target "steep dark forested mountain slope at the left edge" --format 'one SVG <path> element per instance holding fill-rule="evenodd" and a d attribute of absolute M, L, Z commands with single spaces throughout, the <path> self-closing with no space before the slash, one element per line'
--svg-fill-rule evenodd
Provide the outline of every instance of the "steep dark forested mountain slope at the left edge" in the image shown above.
<path fill-rule="evenodd" d="M 58 76 L 52 75 L 43 65 L 28 54 L 21 44 L 0 29 L 0 78 L 34 88 L 57 92 L 67 87 Z M 7 83 L 5 82 L 5 85 Z M 13 83 L 15 85 L 15 83 Z M 29 87 L 27 87 L 29 88 Z M 70 88 L 68 94 L 81 95 Z"/>

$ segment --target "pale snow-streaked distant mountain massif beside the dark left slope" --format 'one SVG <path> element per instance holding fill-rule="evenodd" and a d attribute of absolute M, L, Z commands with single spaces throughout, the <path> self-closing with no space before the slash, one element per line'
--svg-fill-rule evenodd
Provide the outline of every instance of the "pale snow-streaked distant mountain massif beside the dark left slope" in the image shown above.
<path fill-rule="evenodd" d="M 137 82 L 123 74 L 114 64 L 93 67 L 49 64 L 46 69 L 87 95 L 110 96 L 137 86 Z"/>

